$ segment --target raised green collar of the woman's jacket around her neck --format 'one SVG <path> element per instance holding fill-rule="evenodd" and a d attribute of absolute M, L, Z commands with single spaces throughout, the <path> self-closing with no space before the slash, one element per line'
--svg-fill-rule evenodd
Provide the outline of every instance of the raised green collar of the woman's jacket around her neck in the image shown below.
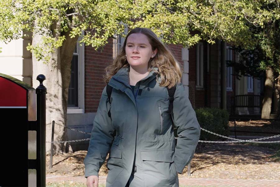
<path fill-rule="evenodd" d="M 150 71 L 150 73 L 143 79 L 141 80 L 152 80 L 154 78 L 156 78 L 156 72 L 153 70 L 158 70 L 157 67 L 153 67 L 152 70 Z M 126 87 L 130 88 L 129 85 L 129 67 L 127 68 L 121 68 L 114 76 L 112 76 L 111 80 L 114 79 L 122 84 L 124 84 Z M 111 80 L 109 81 L 109 83 L 111 82 Z M 139 81 L 141 81 L 139 80 Z"/>

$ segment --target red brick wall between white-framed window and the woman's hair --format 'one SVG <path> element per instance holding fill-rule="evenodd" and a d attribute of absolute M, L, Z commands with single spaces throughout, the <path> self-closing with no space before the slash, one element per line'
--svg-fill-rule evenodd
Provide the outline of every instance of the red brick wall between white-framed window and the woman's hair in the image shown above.
<path fill-rule="evenodd" d="M 105 68 L 113 60 L 113 39 L 108 40 L 103 50 L 85 47 L 85 112 L 96 112 L 101 93 L 105 87 Z"/>

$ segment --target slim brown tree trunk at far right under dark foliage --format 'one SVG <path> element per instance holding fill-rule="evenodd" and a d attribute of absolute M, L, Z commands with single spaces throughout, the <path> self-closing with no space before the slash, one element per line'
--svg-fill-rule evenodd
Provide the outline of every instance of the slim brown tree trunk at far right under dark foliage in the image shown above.
<path fill-rule="evenodd" d="M 271 112 L 271 103 L 272 103 L 272 94 L 273 94 L 273 70 L 269 66 L 266 69 L 266 79 L 264 83 L 264 99 L 263 99 L 263 108 L 262 108 L 262 118 L 269 119 Z"/>

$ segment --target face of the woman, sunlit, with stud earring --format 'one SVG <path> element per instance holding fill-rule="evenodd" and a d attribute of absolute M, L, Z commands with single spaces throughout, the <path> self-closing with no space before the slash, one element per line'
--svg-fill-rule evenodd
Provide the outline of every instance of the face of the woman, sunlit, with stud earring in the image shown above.
<path fill-rule="evenodd" d="M 133 33 L 128 36 L 125 53 L 128 64 L 134 68 L 148 69 L 148 62 L 156 55 L 146 35 Z"/>

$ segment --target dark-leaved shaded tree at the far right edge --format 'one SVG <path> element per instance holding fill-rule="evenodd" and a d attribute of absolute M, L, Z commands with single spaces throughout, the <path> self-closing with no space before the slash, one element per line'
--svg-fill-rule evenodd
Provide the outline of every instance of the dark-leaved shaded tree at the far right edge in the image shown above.
<path fill-rule="evenodd" d="M 251 75 L 260 78 L 261 74 L 265 74 L 264 99 L 262 108 L 262 118 L 269 118 L 271 113 L 271 104 L 273 96 L 273 88 L 278 99 L 278 115 L 280 117 L 279 93 L 280 93 L 280 28 L 279 28 L 279 1 L 266 1 L 261 7 L 262 10 L 271 12 L 270 19 L 261 25 L 248 22 L 248 26 L 252 32 L 252 40 L 254 45 L 250 49 L 244 50 L 237 47 L 242 60 L 239 62 L 229 62 L 229 66 L 233 66 L 235 74 Z"/>

